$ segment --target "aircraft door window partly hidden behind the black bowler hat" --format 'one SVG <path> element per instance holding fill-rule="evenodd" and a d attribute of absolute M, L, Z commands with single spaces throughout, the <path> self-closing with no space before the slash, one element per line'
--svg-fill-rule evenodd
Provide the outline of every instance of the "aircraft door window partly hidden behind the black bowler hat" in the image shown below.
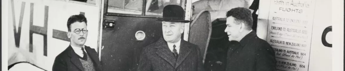
<path fill-rule="evenodd" d="M 163 15 L 163 8 L 166 5 L 180 5 L 181 0 L 147 0 L 146 15 Z"/>

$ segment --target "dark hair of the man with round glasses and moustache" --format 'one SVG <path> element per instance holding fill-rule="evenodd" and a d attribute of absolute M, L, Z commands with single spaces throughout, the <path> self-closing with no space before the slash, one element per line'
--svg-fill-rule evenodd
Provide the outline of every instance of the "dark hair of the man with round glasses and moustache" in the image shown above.
<path fill-rule="evenodd" d="M 68 28 L 68 31 L 71 31 L 71 24 L 72 24 L 72 23 L 75 23 L 75 22 L 85 22 L 85 24 L 87 25 L 86 17 L 85 17 L 83 14 L 72 15 L 72 16 L 69 17 L 68 20 L 67 20 L 67 28 Z"/>

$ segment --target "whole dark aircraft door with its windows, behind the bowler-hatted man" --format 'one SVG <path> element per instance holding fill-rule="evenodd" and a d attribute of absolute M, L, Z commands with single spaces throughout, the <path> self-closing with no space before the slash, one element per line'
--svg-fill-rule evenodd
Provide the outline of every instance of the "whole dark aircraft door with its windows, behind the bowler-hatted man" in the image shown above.
<path fill-rule="evenodd" d="M 141 49 L 162 37 L 162 9 L 184 0 L 105 0 L 100 60 L 104 71 L 135 71 Z M 183 7 L 184 8 L 184 7 Z"/>

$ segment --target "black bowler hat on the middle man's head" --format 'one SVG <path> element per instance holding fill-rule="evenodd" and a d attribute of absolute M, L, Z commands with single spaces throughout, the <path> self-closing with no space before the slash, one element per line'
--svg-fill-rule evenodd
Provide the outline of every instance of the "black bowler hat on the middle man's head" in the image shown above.
<path fill-rule="evenodd" d="M 189 20 L 185 20 L 185 11 L 179 5 L 167 5 L 163 9 L 163 19 L 157 19 L 164 22 L 183 22 L 189 23 Z"/>

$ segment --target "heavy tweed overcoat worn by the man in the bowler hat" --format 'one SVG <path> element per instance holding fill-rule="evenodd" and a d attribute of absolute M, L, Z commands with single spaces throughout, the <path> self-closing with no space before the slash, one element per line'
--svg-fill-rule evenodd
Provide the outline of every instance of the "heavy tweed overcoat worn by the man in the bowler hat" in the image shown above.
<path fill-rule="evenodd" d="M 176 60 L 160 38 L 157 42 L 143 48 L 138 71 L 204 71 L 203 58 L 197 45 L 181 40 L 180 51 Z"/>

